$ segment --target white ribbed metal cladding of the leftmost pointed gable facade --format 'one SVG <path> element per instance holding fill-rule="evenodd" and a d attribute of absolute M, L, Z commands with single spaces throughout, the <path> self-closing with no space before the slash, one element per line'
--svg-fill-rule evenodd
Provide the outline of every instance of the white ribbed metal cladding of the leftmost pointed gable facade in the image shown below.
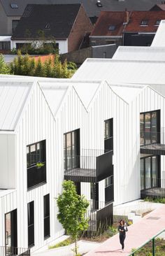
<path fill-rule="evenodd" d="M 62 192 L 62 160 L 58 150 L 59 134 L 50 107 L 36 85 L 15 132 L 17 134 L 17 246 L 27 248 L 27 203 L 34 201 L 34 251 L 63 234 L 57 221 L 55 198 Z M 26 145 L 46 140 L 47 183 L 27 192 Z M 50 239 L 43 238 L 43 196 L 50 194 Z M 23 202 L 23 204 L 22 204 Z"/>

